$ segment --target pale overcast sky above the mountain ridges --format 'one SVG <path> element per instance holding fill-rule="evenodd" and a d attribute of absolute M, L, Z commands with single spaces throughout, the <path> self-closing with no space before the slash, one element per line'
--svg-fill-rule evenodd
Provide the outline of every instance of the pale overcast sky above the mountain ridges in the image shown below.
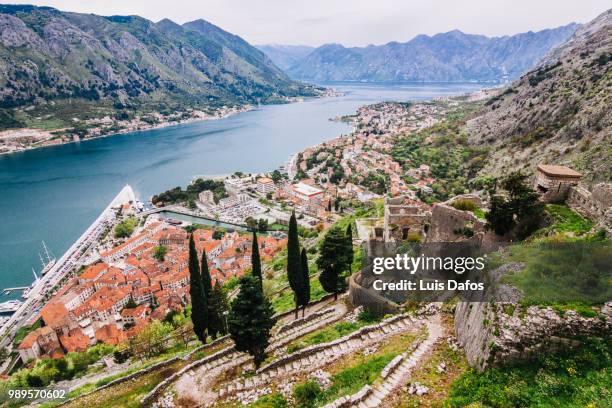
<path fill-rule="evenodd" d="M 405 42 L 454 29 L 511 35 L 584 23 L 610 0 L 44 0 L 12 4 L 52 6 L 100 15 L 139 15 L 177 23 L 203 18 L 251 44 L 345 46 Z"/>

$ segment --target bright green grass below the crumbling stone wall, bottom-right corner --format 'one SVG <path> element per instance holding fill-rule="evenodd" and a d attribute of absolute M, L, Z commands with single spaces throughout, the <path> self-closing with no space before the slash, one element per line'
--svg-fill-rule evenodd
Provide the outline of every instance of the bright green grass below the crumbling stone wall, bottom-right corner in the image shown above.
<path fill-rule="evenodd" d="M 468 370 L 452 385 L 445 406 L 612 406 L 612 340 L 590 338 L 579 348 L 524 365 Z"/>

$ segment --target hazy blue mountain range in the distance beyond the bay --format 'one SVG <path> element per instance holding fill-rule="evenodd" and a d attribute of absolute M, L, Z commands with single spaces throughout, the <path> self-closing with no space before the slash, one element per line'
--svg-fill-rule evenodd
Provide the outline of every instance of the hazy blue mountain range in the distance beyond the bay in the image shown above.
<path fill-rule="evenodd" d="M 536 64 L 578 27 L 489 38 L 454 30 L 364 48 L 326 44 L 288 69 L 307 81 L 499 81 Z M 265 50 L 264 50 L 265 51 Z"/>

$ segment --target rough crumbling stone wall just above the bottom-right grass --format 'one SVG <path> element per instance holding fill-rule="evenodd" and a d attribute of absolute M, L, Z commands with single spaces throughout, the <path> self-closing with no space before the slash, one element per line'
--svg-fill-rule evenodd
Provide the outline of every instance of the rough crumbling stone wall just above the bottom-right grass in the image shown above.
<path fill-rule="evenodd" d="M 575 347 L 580 336 L 612 334 L 612 302 L 595 317 L 573 310 L 521 307 L 516 303 L 459 302 L 455 310 L 457 340 L 471 366 L 483 370 L 525 362 L 543 353 Z"/>

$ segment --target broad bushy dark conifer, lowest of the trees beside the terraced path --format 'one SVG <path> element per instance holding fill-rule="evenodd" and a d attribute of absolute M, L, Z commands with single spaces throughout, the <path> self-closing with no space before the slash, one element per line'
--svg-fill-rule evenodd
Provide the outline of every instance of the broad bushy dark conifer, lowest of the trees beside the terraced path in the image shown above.
<path fill-rule="evenodd" d="M 241 277 L 240 292 L 232 301 L 227 325 L 236 350 L 253 356 L 256 368 L 266 359 L 273 316 L 272 304 L 261 292 L 257 278 Z"/>

